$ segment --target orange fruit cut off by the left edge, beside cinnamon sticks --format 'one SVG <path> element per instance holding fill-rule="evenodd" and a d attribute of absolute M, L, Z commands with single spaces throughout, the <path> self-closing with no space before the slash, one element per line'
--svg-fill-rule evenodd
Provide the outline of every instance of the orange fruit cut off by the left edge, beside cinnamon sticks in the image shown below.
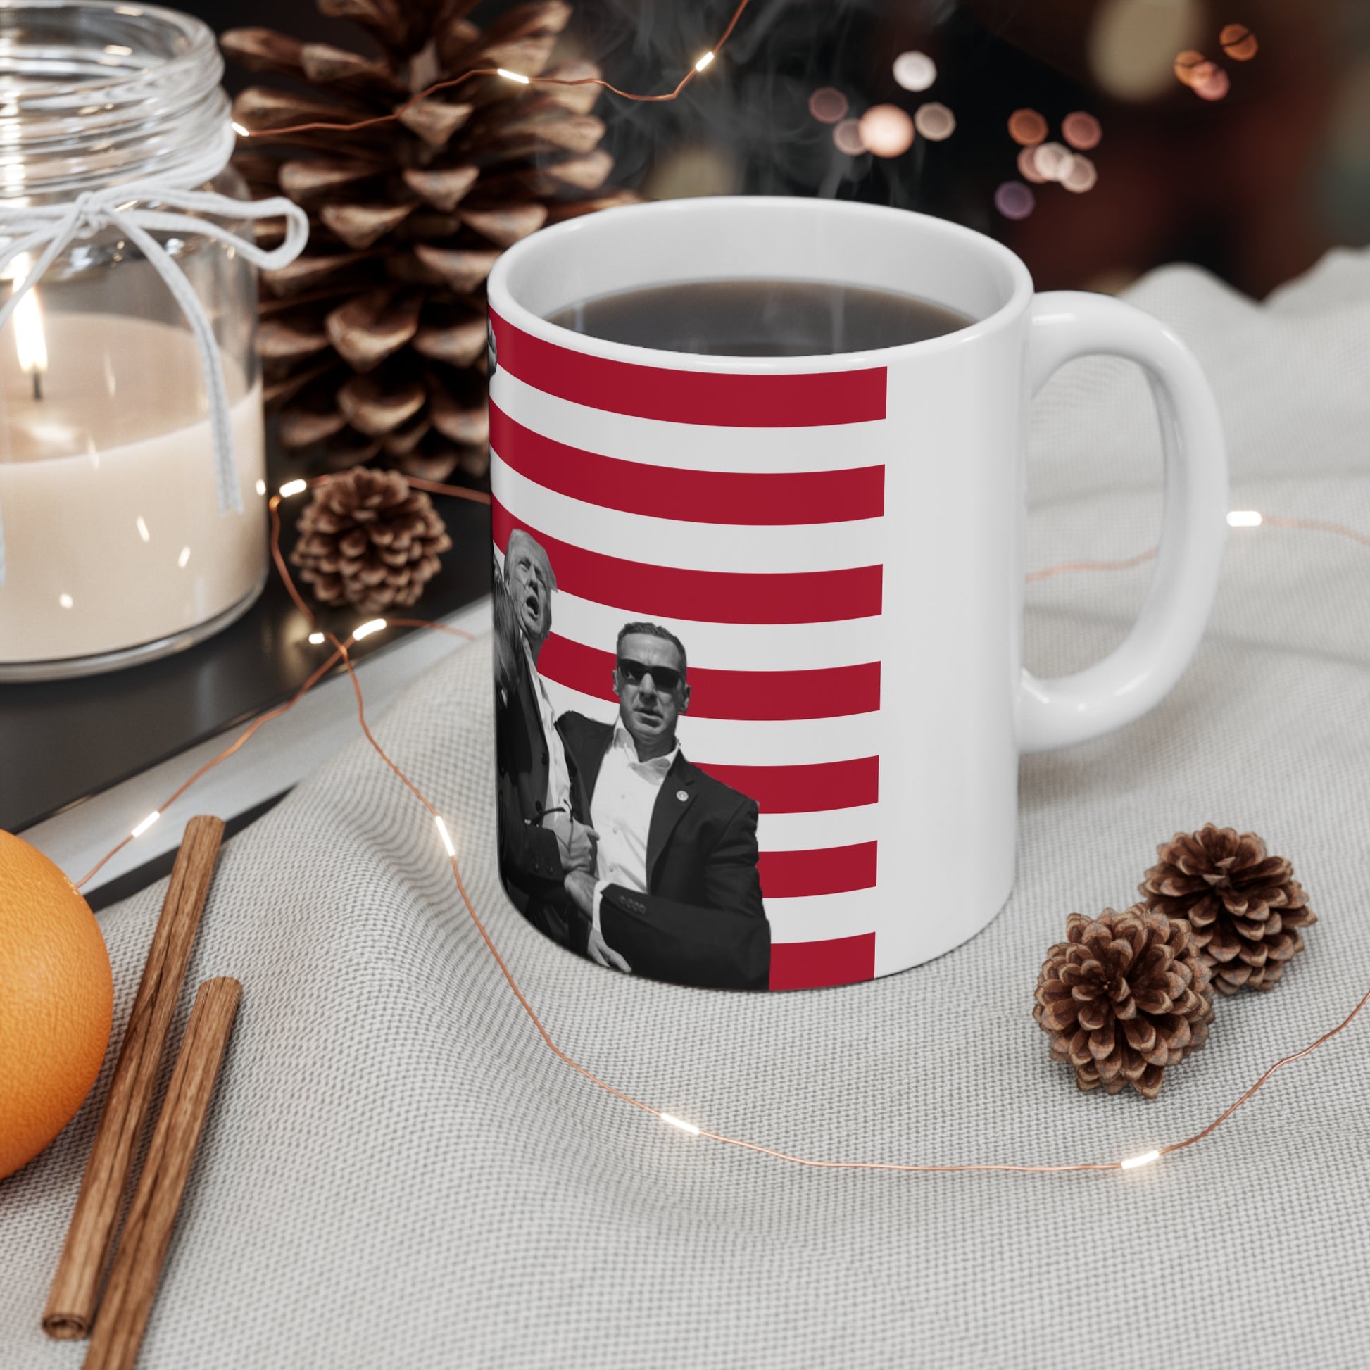
<path fill-rule="evenodd" d="M 75 1115 L 112 1017 L 110 954 L 90 906 L 42 852 L 0 832 L 0 1177 Z"/>

